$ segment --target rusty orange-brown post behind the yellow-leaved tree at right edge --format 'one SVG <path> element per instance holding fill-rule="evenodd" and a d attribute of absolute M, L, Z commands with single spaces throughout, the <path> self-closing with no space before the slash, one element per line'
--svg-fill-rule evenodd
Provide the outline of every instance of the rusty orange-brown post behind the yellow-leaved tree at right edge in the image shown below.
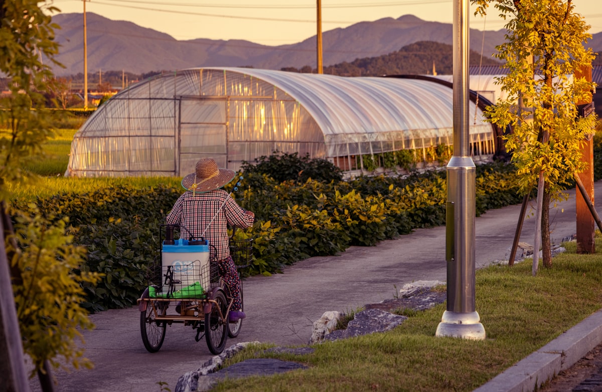
<path fill-rule="evenodd" d="M 577 69 L 574 73 L 575 78 L 585 78 L 588 82 L 592 81 L 592 67 L 583 67 Z M 588 99 L 575 102 L 577 105 L 591 104 L 592 95 Z M 588 164 L 585 172 L 578 173 L 579 179 L 589 196 L 589 200 L 594 203 L 594 140 L 589 138 L 582 143 L 583 154 L 582 161 Z M 577 191 L 575 195 L 577 206 L 577 253 L 593 254 L 595 253 L 595 222 L 594 217 L 589 211 L 588 203 L 581 192 Z"/>

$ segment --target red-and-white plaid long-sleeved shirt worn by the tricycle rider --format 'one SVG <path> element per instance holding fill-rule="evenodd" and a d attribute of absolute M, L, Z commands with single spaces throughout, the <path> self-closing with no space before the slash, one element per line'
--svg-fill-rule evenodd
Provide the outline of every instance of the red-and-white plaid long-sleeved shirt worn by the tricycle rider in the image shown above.
<path fill-rule="evenodd" d="M 192 191 L 186 191 L 178 198 L 166 217 L 167 224 L 185 228 L 180 233 L 181 237 L 188 237 L 188 230 L 194 238 L 203 237 L 209 240 L 209 245 L 216 247 L 217 260 L 223 260 L 230 255 L 227 225 L 247 228 L 253 225 L 253 220 L 253 217 L 245 214 L 243 208 L 222 189 L 196 193 L 194 196 Z M 209 222 L 211 227 L 207 228 Z"/>

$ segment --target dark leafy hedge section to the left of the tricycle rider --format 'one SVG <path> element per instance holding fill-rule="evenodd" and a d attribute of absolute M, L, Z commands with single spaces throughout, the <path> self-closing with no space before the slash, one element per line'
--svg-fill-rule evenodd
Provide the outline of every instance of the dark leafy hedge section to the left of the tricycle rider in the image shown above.
<path fill-rule="evenodd" d="M 140 297 L 147 265 L 157 257 L 158 227 L 179 193 L 175 188 L 123 187 L 37 200 L 51 222 L 69 219 L 73 243 L 88 251 L 84 270 L 105 274 L 96 287 L 84 287 L 85 308 L 123 308 Z M 28 209 L 19 202 L 14 207 Z"/>

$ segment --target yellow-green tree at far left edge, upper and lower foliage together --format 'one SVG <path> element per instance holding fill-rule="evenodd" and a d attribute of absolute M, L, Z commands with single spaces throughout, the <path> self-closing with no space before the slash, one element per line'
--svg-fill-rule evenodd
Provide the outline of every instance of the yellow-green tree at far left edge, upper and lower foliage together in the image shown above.
<path fill-rule="evenodd" d="M 58 51 L 51 14 L 37 0 L 0 0 L 0 75 L 8 78 L 10 94 L 0 98 L 0 213 L 11 284 L 23 351 L 36 372 L 44 374 L 50 362 L 74 367 L 90 364 L 82 358 L 81 329 L 93 328 L 82 284 L 95 284 L 99 276 L 85 272 L 85 249 L 74 246 L 66 235 L 65 220 L 50 223 L 32 204 L 29 211 L 11 210 L 11 187 L 36 176 L 22 169 L 22 159 L 41 154 L 41 145 L 52 135 L 42 92 L 52 79 L 42 57 L 52 61 Z M 12 219 L 8 219 L 12 216 Z M 10 232 L 11 222 L 14 234 Z M 1 331 L 11 334 L 12 331 Z M 0 360 L 0 362 L 3 362 Z M 9 375 L 10 376 L 10 375 Z"/>

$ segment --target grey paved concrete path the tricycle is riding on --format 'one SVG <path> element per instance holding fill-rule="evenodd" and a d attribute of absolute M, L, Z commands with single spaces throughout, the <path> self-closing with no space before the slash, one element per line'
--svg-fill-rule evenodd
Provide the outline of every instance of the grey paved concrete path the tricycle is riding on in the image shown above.
<path fill-rule="evenodd" d="M 602 182 L 595 185 L 601 194 Z M 602 201 L 602 198 L 600 198 Z M 602 206 L 602 203 L 600 203 Z M 598 204 L 597 204 L 598 206 Z M 520 205 L 488 211 L 476 218 L 476 263 L 503 260 L 512 245 Z M 574 191 L 551 211 L 551 238 L 559 243 L 576 232 Z M 535 219 L 526 219 L 521 241 L 532 244 Z M 306 344 L 312 323 L 324 311 L 356 310 L 365 303 L 393 298 L 396 287 L 418 280 L 446 280 L 445 228 L 417 229 L 374 247 L 350 247 L 340 256 L 314 257 L 273 276 L 244 280 L 247 319 L 227 347 L 243 341 L 278 345 Z M 477 306 L 477 311 L 479 311 Z M 93 370 L 55 371 L 57 391 L 149 392 L 166 382 L 172 391 L 179 376 L 211 358 L 205 340 L 182 325 L 167 328 L 163 347 L 148 353 L 140 338 L 137 308 L 110 310 L 91 316 L 96 329 L 85 331 L 85 356 Z M 433 333 L 436 325 L 433 325 Z M 487 326 L 485 325 L 485 330 Z M 37 379 L 31 381 L 39 391 Z"/>

